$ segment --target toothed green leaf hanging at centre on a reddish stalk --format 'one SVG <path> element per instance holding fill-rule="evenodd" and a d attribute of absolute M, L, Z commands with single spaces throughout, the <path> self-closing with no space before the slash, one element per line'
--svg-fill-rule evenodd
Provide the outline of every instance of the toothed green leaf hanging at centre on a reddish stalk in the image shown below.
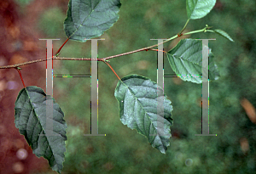
<path fill-rule="evenodd" d="M 148 138 L 153 147 L 166 154 L 170 145 L 172 126 L 172 105 L 157 83 L 147 77 L 125 76 L 118 82 L 114 96 L 119 101 L 119 116 L 124 125 L 136 129 Z M 158 100 L 162 99 L 163 109 L 157 113 Z"/>

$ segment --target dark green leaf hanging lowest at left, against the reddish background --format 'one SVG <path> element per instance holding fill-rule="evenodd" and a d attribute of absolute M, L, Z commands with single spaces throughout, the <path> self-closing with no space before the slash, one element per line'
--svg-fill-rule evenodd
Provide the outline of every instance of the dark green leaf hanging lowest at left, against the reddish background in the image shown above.
<path fill-rule="evenodd" d="M 53 99 L 53 129 L 46 129 L 46 100 Z M 55 99 L 46 96 L 40 87 L 20 90 L 15 102 L 15 126 L 31 145 L 33 153 L 43 156 L 49 166 L 59 173 L 63 168 L 67 124 L 64 114 Z M 49 119 L 49 118 L 47 118 Z M 51 134 L 47 134 L 47 132 Z M 53 131 L 53 132 L 52 132 Z M 46 133 L 45 133 L 46 132 Z"/>

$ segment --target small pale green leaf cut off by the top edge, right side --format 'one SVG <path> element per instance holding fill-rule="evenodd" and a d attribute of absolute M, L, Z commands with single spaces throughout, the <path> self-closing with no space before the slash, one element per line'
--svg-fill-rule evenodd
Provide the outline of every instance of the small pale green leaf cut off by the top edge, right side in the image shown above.
<path fill-rule="evenodd" d="M 187 0 L 188 19 L 197 20 L 205 17 L 212 10 L 216 0 Z"/>

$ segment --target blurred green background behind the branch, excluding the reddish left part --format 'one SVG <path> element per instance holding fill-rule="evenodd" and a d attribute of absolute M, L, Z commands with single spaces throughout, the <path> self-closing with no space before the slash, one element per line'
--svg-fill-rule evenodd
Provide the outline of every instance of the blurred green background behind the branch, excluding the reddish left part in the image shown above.
<path fill-rule="evenodd" d="M 150 39 L 175 36 L 187 20 L 185 0 L 121 3 L 118 22 L 100 37 L 105 41 L 98 42 L 99 58 L 154 45 L 156 41 Z M 38 20 L 45 37 L 61 38 L 54 42 L 55 49 L 66 40 L 66 11 L 67 6 L 48 8 Z M 251 121 L 256 105 L 255 21 L 254 0 L 219 0 L 206 17 L 189 21 L 185 32 L 207 24 L 226 31 L 235 42 L 214 33 L 190 36 L 216 38 L 209 41 L 209 48 L 221 77 L 210 82 L 209 123 L 210 133 L 218 136 L 195 137 L 201 133 L 201 85 L 166 77 L 165 93 L 172 101 L 174 121 L 166 154 L 119 121 L 119 104 L 113 96 L 118 79 L 107 65 L 98 63 L 98 133 L 106 137 L 84 136 L 90 133 L 90 78 L 54 78 L 54 97 L 68 125 L 63 173 L 255 173 L 256 126 Z M 166 43 L 165 50 L 176 43 Z M 90 42 L 69 41 L 61 56 L 89 58 Z M 156 59 L 154 51 L 140 52 L 110 59 L 110 65 L 121 78 L 138 74 L 156 81 Z M 89 61 L 54 60 L 54 66 L 55 75 L 90 74 Z M 165 74 L 174 74 L 166 55 Z"/>

